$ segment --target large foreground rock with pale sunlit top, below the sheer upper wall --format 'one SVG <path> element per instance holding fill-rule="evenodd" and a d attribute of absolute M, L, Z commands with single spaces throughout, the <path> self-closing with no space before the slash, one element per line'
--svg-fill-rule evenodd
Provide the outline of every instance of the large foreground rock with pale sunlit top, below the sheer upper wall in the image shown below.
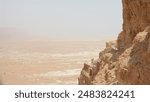
<path fill-rule="evenodd" d="M 116 73 L 118 82 L 121 84 L 150 84 L 149 45 L 149 32 L 140 32 L 136 35 L 133 45 L 119 56 L 118 72 Z"/>

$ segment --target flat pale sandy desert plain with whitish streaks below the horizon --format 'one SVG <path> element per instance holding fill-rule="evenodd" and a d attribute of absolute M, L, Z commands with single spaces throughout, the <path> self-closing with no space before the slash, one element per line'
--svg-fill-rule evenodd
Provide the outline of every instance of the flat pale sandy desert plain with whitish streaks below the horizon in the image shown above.
<path fill-rule="evenodd" d="M 0 84 L 77 84 L 104 42 L 0 42 Z"/>

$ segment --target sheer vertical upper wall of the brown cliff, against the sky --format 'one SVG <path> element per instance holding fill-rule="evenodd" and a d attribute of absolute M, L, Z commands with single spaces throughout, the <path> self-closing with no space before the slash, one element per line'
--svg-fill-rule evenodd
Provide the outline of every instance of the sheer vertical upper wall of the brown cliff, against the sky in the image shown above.
<path fill-rule="evenodd" d="M 136 34 L 149 26 L 150 0 L 122 0 L 122 4 L 123 32 L 119 35 L 118 43 L 119 47 L 129 47 Z"/>

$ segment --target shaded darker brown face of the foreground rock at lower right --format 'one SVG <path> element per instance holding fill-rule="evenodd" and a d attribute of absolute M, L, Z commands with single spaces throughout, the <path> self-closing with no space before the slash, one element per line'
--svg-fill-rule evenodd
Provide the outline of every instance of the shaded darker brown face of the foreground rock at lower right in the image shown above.
<path fill-rule="evenodd" d="M 140 41 L 141 39 L 143 40 Z M 128 76 L 126 76 L 130 78 L 128 79 L 127 84 L 150 85 L 150 53 L 148 52 L 150 33 L 142 35 L 140 40 L 134 42 L 135 44 L 130 53 L 130 60 L 128 61 L 127 66 L 129 72 L 127 74 Z"/>

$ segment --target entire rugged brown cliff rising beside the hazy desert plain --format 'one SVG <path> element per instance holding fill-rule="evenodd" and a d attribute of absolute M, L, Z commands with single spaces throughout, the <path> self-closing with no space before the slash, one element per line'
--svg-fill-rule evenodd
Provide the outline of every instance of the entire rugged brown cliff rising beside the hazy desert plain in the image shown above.
<path fill-rule="evenodd" d="M 123 31 L 98 60 L 84 64 L 79 84 L 150 84 L 150 0 L 122 0 Z"/>

